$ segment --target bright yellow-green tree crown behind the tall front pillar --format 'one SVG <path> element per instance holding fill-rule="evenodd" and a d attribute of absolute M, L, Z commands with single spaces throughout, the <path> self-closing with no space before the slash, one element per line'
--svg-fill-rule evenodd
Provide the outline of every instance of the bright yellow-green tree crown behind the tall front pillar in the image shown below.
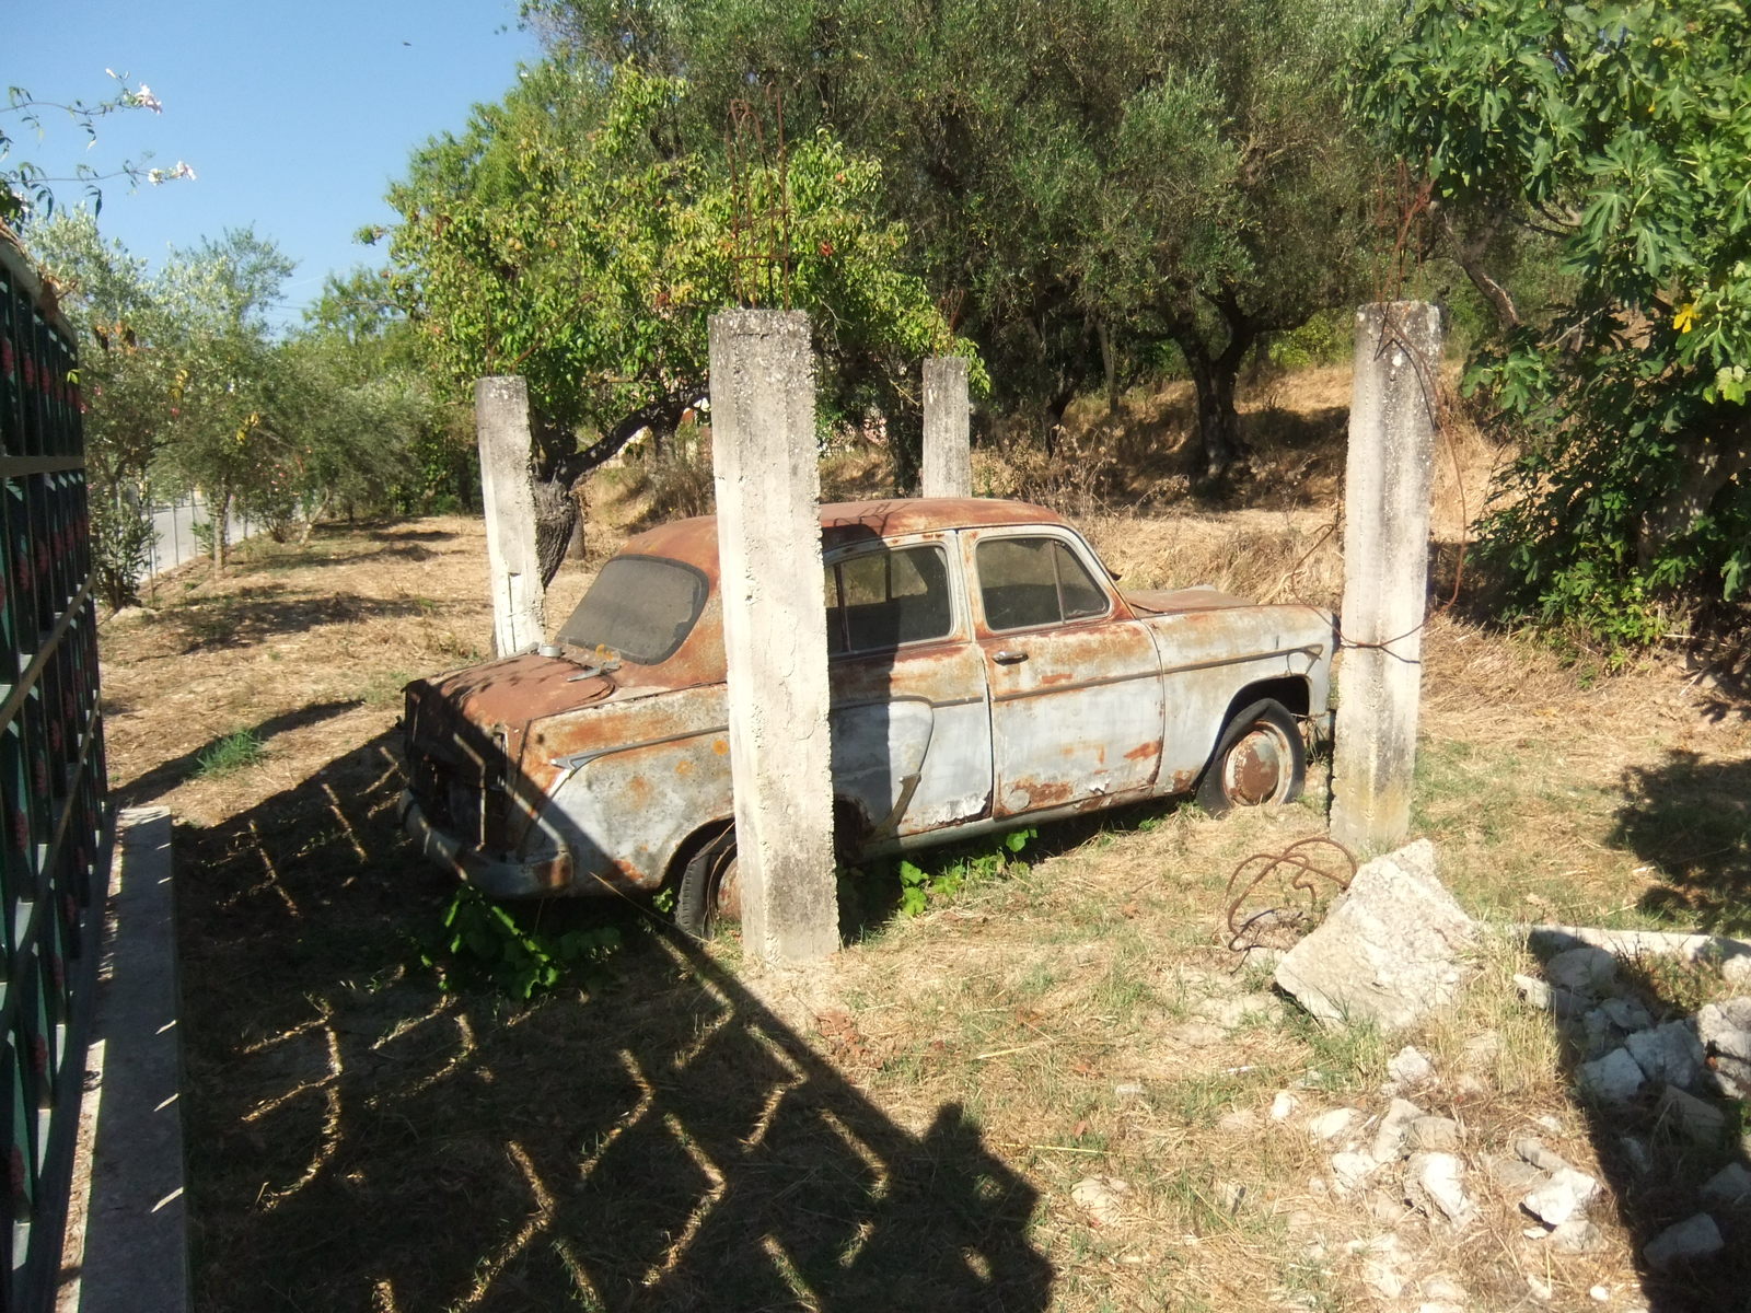
<path fill-rule="evenodd" d="M 872 161 L 826 133 L 727 156 L 720 131 L 678 135 L 685 95 L 555 56 L 413 159 L 390 191 L 396 292 L 452 396 L 518 373 L 562 432 L 672 429 L 727 306 L 807 310 L 828 397 L 897 396 L 921 355 L 972 350 L 870 219 Z"/>

